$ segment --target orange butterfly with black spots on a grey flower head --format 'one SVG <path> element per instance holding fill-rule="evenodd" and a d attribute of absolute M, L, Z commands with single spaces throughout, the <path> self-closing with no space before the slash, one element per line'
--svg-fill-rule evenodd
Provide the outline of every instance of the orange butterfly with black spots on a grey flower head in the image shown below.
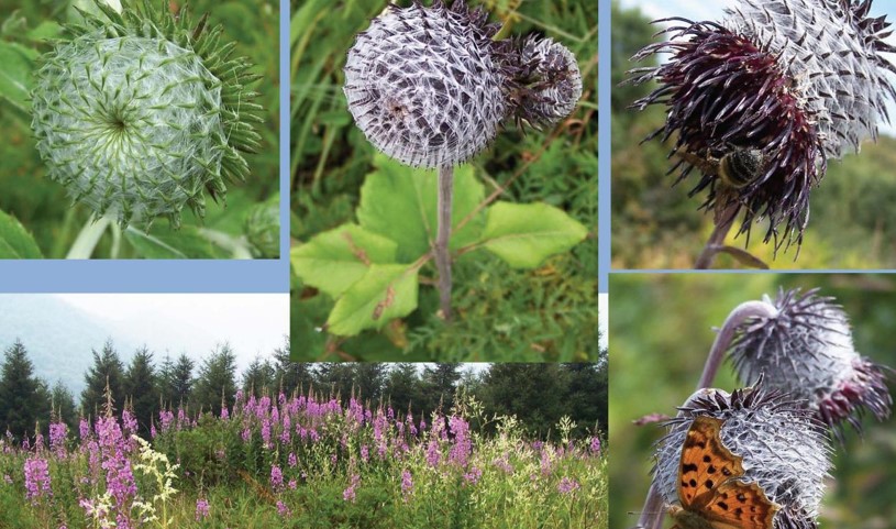
<path fill-rule="evenodd" d="M 757 483 L 743 483 L 743 458 L 724 448 L 721 419 L 697 417 L 687 431 L 678 466 L 673 529 L 772 529 L 779 505 Z"/>

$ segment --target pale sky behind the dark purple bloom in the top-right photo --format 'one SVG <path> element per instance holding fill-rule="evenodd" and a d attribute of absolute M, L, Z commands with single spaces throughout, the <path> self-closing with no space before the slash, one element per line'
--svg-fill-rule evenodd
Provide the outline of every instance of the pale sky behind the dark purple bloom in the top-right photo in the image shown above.
<path fill-rule="evenodd" d="M 670 16 L 684 16 L 690 20 L 719 20 L 722 18 L 722 10 L 732 5 L 732 0 L 620 0 L 622 8 L 639 8 L 641 12 L 651 20 L 665 19 Z M 896 0 L 875 0 L 871 8 L 871 16 L 887 15 L 889 22 L 896 22 Z M 896 45 L 896 34 L 887 38 Z M 896 63 L 896 55 L 886 55 L 891 62 Z M 893 82 L 896 85 L 896 75 L 891 74 Z M 896 120 L 896 104 L 887 101 L 887 111 Z M 896 124 L 880 123 L 881 133 L 896 136 Z"/>

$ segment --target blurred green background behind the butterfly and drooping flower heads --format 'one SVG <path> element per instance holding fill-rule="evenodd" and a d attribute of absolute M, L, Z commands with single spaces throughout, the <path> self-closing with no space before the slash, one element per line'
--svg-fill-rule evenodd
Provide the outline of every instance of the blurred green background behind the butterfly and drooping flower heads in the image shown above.
<path fill-rule="evenodd" d="M 689 274 L 611 275 L 609 335 L 610 527 L 634 526 L 650 486 L 652 443 L 663 430 L 632 421 L 649 414 L 674 416 L 694 392 L 714 328 L 743 301 L 774 297 L 778 287 L 820 288 L 843 306 L 853 326 L 856 350 L 873 361 L 896 365 L 896 277 L 889 275 Z M 730 365 L 715 387 L 732 390 Z M 893 387 L 891 385 L 891 387 Z M 833 478 L 827 483 L 823 527 L 872 529 L 896 519 L 896 422 L 866 418 L 864 439 L 853 431 L 836 445 Z M 666 526 L 668 527 L 668 525 Z"/>

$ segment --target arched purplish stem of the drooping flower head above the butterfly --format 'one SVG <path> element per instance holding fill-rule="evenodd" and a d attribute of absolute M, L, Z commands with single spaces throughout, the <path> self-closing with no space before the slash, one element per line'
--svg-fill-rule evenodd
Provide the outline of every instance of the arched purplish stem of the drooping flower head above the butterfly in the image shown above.
<path fill-rule="evenodd" d="M 697 389 L 709 387 L 712 384 L 716 373 L 719 372 L 719 366 L 724 359 L 724 352 L 731 346 L 741 323 L 750 318 L 774 318 L 777 313 L 777 308 L 767 301 L 746 301 L 737 306 L 726 318 L 719 333 L 716 334 L 716 341 L 712 342 L 712 348 L 706 357 L 704 372 L 697 383 Z M 681 415 L 679 412 L 678 416 L 681 417 Z M 663 498 L 660 496 L 660 492 L 654 484 L 651 484 L 637 527 L 639 529 L 662 529 L 663 515 L 665 514 L 663 507 Z"/>

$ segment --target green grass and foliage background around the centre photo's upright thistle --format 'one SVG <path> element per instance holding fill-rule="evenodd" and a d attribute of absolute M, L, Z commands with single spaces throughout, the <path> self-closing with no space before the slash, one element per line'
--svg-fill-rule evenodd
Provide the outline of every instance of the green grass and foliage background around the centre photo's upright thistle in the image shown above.
<path fill-rule="evenodd" d="M 399 2 L 407 5 L 410 2 Z M 597 324 L 597 2 L 471 1 L 505 23 L 501 35 L 538 32 L 578 58 L 584 95 L 553 131 L 521 134 L 512 126 L 473 159 L 490 194 L 521 173 L 501 200 L 543 201 L 589 228 L 571 253 L 529 272 L 511 271 L 477 252 L 454 266 L 455 320 L 435 316 L 438 293 L 420 289 L 418 310 L 383 332 L 343 340 L 320 331 L 333 300 L 292 276 L 291 339 L 297 360 L 594 361 Z M 354 35 L 387 2 L 292 1 L 290 233 L 292 244 L 353 220 L 358 190 L 375 151 L 354 125 L 342 93 L 342 66 Z M 391 163 L 391 162 L 390 162 Z M 422 275 L 432 277 L 428 265 Z"/>

